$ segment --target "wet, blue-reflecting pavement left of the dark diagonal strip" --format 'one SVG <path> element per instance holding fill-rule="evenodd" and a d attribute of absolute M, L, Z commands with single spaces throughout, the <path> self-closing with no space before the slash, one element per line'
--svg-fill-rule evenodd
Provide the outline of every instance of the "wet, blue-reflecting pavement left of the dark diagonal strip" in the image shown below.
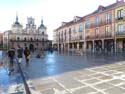
<path fill-rule="evenodd" d="M 0 94 L 25 94 L 21 75 L 17 72 L 17 63 L 14 64 L 15 70 L 9 76 L 8 62 L 8 57 L 5 54 L 2 57 L 0 51 Z"/>

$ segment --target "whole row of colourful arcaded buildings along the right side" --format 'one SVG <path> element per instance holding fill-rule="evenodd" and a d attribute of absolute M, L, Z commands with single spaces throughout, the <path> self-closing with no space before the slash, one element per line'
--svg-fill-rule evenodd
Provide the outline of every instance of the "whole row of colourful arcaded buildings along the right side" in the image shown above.
<path fill-rule="evenodd" d="M 58 50 L 116 52 L 125 50 L 125 3 L 100 5 L 83 17 L 75 16 L 54 31 Z M 119 33 L 120 32 L 120 33 Z"/>

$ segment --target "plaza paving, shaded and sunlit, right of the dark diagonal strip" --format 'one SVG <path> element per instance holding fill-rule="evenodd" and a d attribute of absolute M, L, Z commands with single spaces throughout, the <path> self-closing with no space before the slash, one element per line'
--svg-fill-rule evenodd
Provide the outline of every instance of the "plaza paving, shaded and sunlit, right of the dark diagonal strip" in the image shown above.
<path fill-rule="evenodd" d="M 23 71 L 32 94 L 125 94 L 124 54 L 32 55 Z"/>

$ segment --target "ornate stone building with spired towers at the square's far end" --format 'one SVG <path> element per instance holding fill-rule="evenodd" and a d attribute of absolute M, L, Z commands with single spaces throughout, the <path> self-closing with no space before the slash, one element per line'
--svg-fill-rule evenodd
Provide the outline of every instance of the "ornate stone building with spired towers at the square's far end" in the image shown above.
<path fill-rule="evenodd" d="M 44 26 L 43 19 L 41 25 L 37 28 L 35 19 L 28 17 L 26 27 L 23 28 L 18 21 L 18 16 L 16 16 L 16 21 L 13 23 L 11 30 L 4 32 L 4 47 L 16 48 L 18 45 L 23 48 L 28 47 L 32 51 L 48 49 L 50 41 L 48 40 L 47 27 Z"/>

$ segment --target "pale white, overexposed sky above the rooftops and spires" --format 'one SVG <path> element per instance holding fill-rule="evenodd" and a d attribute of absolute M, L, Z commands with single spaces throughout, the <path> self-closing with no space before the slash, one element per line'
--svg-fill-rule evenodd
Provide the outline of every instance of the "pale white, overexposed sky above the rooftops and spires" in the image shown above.
<path fill-rule="evenodd" d="M 24 28 L 27 17 L 35 18 L 37 27 L 43 18 L 49 39 L 53 39 L 53 30 L 62 22 L 71 21 L 74 16 L 85 16 L 95 11 L 99 5 L 107 6 L 115 2 L 116 0 L 0 0 L 0 31 L 11 29 L 17 12 Z"/>

